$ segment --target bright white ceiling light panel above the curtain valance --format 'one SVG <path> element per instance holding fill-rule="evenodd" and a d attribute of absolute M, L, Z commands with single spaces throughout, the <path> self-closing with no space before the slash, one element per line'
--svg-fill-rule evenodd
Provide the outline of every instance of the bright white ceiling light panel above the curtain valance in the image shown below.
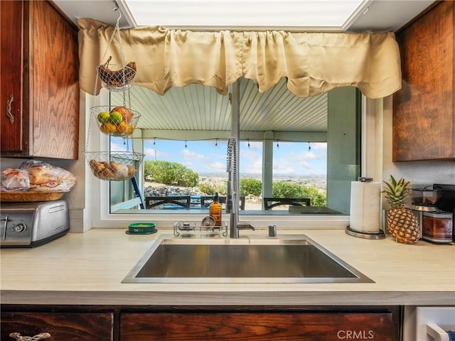
<path fill-rule="evenodd" d="M 339 30 L 363 0 L 125 0 L 137 26 Z"/>

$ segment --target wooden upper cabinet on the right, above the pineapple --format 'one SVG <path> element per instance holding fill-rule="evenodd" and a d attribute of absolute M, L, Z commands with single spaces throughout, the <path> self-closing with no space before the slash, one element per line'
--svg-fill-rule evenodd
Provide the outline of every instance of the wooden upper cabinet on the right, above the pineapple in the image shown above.
<path fill-rule="evenodd" d="M 393 161 L 455 158 L 455 1 L 397 33 L 402 90 L 393 97 Z"/>

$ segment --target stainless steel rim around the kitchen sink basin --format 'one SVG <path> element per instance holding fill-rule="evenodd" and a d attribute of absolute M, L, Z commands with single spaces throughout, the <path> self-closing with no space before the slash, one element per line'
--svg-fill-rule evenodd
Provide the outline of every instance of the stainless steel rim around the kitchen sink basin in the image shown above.
<path fill-rule="evenodd" d="M 353 277 L 137 277 L 144 264 L 163 245 L 312 245 L 323 252 L 337 265 L 353 274 Z M 283 234 L 278 238 L 240 237 L 238 239 L 225 237 L 212 238 L 182 238 L 173 234 L 161 234 L 154 240 L 151 247 L 141 256 L 137 264 L 124 277 L 122 283 L 375 283 L 371 278 L 350 266 L 320 244 L 314 242 L 306 234 Z"/>

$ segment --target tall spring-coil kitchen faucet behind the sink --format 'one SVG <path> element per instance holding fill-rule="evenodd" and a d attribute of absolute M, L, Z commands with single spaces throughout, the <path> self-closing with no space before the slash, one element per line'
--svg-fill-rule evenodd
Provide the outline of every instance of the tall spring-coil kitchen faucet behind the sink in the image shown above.
<path fill-rule="evenodd" d="M 234 137 L 228 141 L 228 188 L 226 192 L 226 213 L 230 213 L 229 231 L 231 238 L 238 238 L 240 229 L 252 229 L 255 227 L 249 222 L 239 222 L 239 178 L 238 178 L 238 146 Z"/>

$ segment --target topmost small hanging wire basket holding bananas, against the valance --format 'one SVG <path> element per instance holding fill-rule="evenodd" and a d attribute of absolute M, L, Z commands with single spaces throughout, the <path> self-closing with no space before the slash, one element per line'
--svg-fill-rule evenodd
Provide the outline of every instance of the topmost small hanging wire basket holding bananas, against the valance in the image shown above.
<path fill-rule="evenodd" d="M 135 67 L 134 63 L 125 66 L 106 63 L 97 66 L 97 75 L 107 90 L 125 91 L 133 85 L 136 76 Z"/>

